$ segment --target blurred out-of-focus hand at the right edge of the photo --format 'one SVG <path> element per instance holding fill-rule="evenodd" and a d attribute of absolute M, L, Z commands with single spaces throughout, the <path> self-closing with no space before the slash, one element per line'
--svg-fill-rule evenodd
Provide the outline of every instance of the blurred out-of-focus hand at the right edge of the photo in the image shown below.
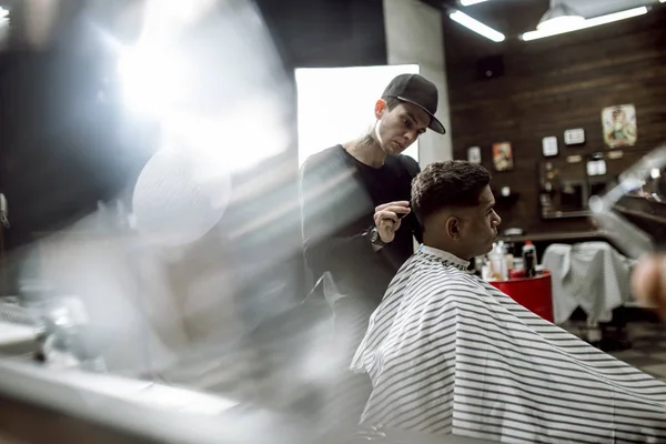
<path fill-rule="evenodd" d="M 632 289 L 640 302 L 655 307 L 666 321 L 666 255 L 642 259 L 634 270 Z"/>

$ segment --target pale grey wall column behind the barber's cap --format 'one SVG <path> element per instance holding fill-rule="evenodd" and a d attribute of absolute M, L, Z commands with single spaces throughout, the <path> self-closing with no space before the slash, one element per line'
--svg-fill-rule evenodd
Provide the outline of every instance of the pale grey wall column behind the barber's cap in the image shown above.
<path fill-rule="evenodd" d="M 390 64 L 416 63 L 421 73 L 437 85 L 437 118 L 447 132 L 444 137 L 427 131 L 418 139 L 422 167 L 452 159 L 451 117 L 442 13 L 420 0 L 384 0 L 386 51 Z"/>

